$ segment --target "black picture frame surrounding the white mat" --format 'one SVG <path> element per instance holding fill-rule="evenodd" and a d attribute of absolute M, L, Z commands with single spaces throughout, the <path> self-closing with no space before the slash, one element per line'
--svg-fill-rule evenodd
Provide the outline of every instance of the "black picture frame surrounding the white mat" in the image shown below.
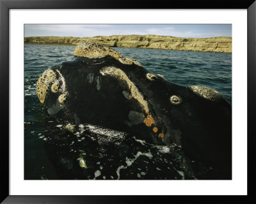
<path fill-rule="evenodd" d="M 9 195 L 9 10 L 10 9 L 246 9 L 248 13 L 248 195 L 247 196 L 10 196 Z M 255 0 L 190 1 L 104 1 L 104 0 L 0 0 L 0 116 L 1 197 L 3 203 L 145 203 L 168 200 L 189 203 L 255 203 L 255 87 L 256 87 L 256 2 Z M 243 99 L 242 99 L 243 100 Z"/>

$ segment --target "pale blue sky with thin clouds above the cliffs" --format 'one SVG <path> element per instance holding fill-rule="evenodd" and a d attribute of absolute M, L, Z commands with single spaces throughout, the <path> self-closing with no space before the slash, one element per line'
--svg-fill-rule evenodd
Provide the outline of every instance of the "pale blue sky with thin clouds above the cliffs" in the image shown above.
<path fill-rule="evenodd" d="M 232 36 L 232 24 L 25 24 L 24 36 L 92 37 L 164 35 L 180 38 Z"/>

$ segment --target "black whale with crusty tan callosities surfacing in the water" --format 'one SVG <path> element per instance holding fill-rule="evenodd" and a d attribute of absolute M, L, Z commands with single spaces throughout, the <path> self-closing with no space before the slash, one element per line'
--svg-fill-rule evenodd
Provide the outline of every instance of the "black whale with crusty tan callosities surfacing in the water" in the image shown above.
<path fill-rule="evenodd" d="M 174 143 L 232 177 L 232 106 L 212 88 L 174 84 L 110 47 L 84 42 L 73 60 L 40 75 L 36 93 L 49 116 Z"/>

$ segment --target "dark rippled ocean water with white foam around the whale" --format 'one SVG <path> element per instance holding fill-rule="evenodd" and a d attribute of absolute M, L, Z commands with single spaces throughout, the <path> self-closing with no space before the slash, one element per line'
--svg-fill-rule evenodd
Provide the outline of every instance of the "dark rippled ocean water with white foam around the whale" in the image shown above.
<path fill-rule="evenodd" d="M 38 77 L 74 58 L 74 46 L 24 46 L 25 179 L 218 179 L 211 166 L 192 161 L 180 146 L 157 146 L 93 124 L 63 132 L 36 96 Z M 232 102 L 232 54 L 115 48 L 154 74 L 182 86 L 213 88 Z M 103 133 L 102 133 L 103 132 Z M 118 139 L 109 139 L 118 134 Z M 61 139 L 59 139 L 61 137 Z M 57 139 L 58 138 L 58 142 Z M 104 138 L 104 139 L 102 139 Z"/>

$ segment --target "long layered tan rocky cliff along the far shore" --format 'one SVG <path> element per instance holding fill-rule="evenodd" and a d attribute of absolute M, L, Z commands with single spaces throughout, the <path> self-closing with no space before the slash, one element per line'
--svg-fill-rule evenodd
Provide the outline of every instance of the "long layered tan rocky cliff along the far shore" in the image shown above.
<path fill-rule="evenodd" d="M 112 35 L 92 38 L 78 37 L 26 37 L 24 43 L 44 45 L 79 45 L 82 42 L 97 42 L 109 47 L 136 47 L 168 49 L 175 51 L 232 52 L 231 37 L 177 38 L 159 35 Z"/>

